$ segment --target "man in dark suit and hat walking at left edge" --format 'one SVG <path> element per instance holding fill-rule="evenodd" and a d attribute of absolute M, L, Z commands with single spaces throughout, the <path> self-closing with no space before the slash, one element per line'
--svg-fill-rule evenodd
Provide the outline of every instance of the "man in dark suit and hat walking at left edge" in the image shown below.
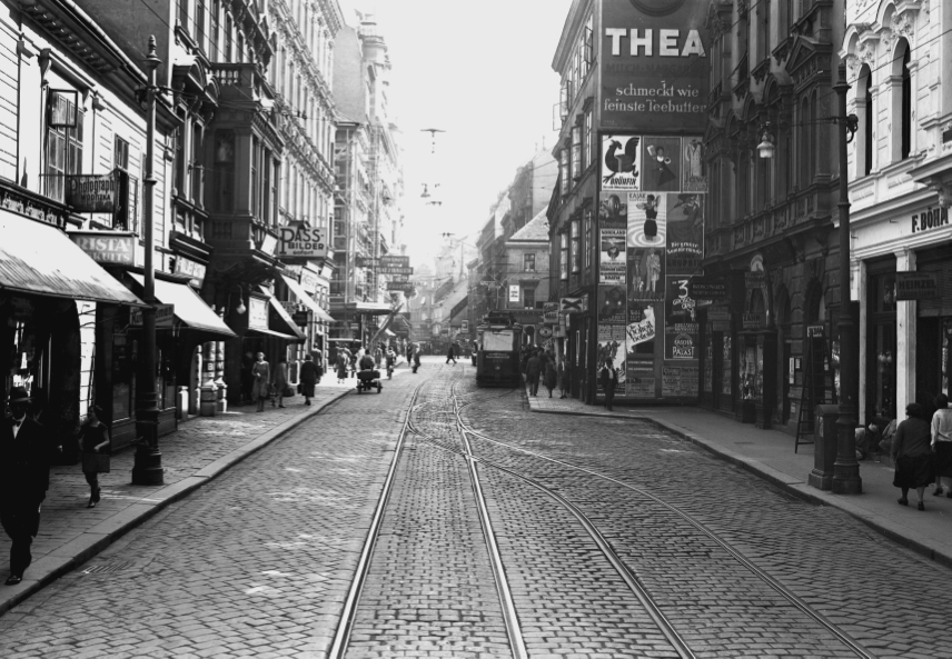
<path fill-rule="evenodd" d="M 7 586 L 22 581 L 32 561 L 30 545 L 40 528 L 54 450 L 43 427 L 27 415 L 30 401 L 26 389 L 13 387 L 11 416 L 0 422 L 0 522 L 12 540 Z"/>

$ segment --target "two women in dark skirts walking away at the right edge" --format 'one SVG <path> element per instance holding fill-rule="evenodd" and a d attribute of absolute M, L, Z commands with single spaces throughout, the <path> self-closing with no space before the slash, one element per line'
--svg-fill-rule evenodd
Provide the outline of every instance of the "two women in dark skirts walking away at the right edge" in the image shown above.
<path fill-rule="evenodd" d="M 905 406 L 906 419 L 895 431 L 892 442 L 892 459 L 895 462 L 893 486 L 900 488 L 901 506 L 909 506 L 909 490 L 919 495 L 919 510 L 925 510 L 925 488 L 935 483 L 933 495 L 952 499 L 952 409 L 949 397 L 935 397 L 935 413 L 931 420 L 924 417 L 922 406 L 912 402 Z M 943 480 L 948 483 L 943 490 Z"/>

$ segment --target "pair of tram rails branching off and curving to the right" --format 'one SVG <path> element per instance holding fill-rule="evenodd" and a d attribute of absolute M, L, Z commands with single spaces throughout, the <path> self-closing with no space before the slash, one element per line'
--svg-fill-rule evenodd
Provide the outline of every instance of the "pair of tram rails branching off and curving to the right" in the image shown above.
<path fill-rule="evenodd" d="M 551 457 L 544 456 L 539 452 L 532 451 L 532 450 L 525 449 L 523 447 L 517 447 L 517 446 L 514 446 L 512 443 L 500 441 L 498 439 L 488 437 L 485 433 L 475 430 L 472 426 L 469 426 L 464 420 L 463 410 L 465 408 L 470 407 L 473 405 L 476 405 L 477 402 L 480 402 L 480 401 L 467 400 L 467 401 L 460 402 L 458 400 L 458 395 L 455 392 L 457 383 L 458 383 L 458 381 L 455 382 L 453 386 L 453 393 L 452 393 L 450 398 L 454 400 L 454 405 L 456 408 L 457 425 L 458 425 L 460 433 L 464 437 L 468 436 L 468 437 L 472 437 L 472 438 L 480 440 L 480 441 L 485 441 L 485 442 L 489 442 L 489 443 L 493 443 L 493 445 L 498 446 L 498 447 L 503 447 L 507 450 L 518 451 L 519 453 L 523 453 L 525 456 L 528 456 L 528 457 L 532 457 L 532 458 L 535 458 L 538 460 L 545 460 L 545 461 L 552 462 L 554 465 L 558 465 L 562 468 L 583 472 L 586 476 L 597 478 L 599 480 L 604 480 L 604 481 L 609 482 L 614 486 L 618 486 L 618 487 L 624 488 L 626 490 L 633 491 L 642 498 L 645 498 L 645 499 L 653 501 L 655 505 L 661 506 L 663 509 L 665 509 L 666 511 L 668 511 L 673 516 L 676 516 L 678 519 L 681 519 L 682 521 L 690 525 L 693 529 L 695 529 L 696 531 L 698 531 L 700 533 L 702 533 L 706 538 L 708 538 L 712 542 L 714 542 L 722 550 L 724 550 L 727 555 L 730 555 L 737 563 L 740 563 L 748 572 L 754 575 L 762 582 L 764 582 L 766 586 L 768 586 L 773 591 L 775 591 L 777 595 L 783 597 L 792 607 L 797 609 L 801 613 L 807 616 L 815 623 L 817 623 L 823 629 L 825 629 L 827 632 L 833 635 L 846 649 L 849 649 L 855 656 L 862 657 L 864 659 L 872 659 L 873 657 L 875 657 L 874 653 L 872 653 L 869 649 L 864 648 L 859 641 L 856 641 L 854 638 L 852 638 L 851 635 L 849 635 L 846 631 L 841 629 L 840 626 L 835 625 L 826 616 L 822 615 L 820 611 L 817 611 L 813 607 L 811 607 L 800 596 L 797 596 L 795 592 L 793 592 L 790 588 L 784 586 L 777 579 L 772 577 L 765 570 L 763 570 L 758 566 L 756 566 L 753 561 L 747 559 L 740 550 L 737 550 L 728 541 L 723 539 L 716 531 L 710 529 L 704 522 L 697 520 L 691 513 L 680 509 L 678 507 L 676 507 L 674 505 L 671 505 L 671 503 L 662 500 L 660 497 L 648 492 L 644 488 L 639 488 L 639 487 L 633 486 L 631 483 L 626 483 L 619 479 L 616 479 L 616 478 L 613 478 L 611 476 L 601 473 L 601 472 L 595 471 L 593 469 L 588 469 L 588 468 L 585 468 L 585 467 L 582 467 L 578 465 L 573 465 L 573 463 L 566 462 L 564 460 L 551 458 Z M 467 440 L 467 442 L 468 442 L 468 440 Z M 489 467 L 493 469 L 498 469 L 498 470 L 504 471 L 506 473 L 509 473 L 510 476 L 514 476 L 514 477 L 516 477 L 516 478 L 518 478 L 525 482 L 528 482 L 529 485 L 532 485 L 536 489 L 546 492 L 551 498 L 558 501 L 562 506 L 564 506 L 566 509 L 568 509 L 573 513 L 573 516 L 575 516 L 579 520 L 579 523 L 582 523 L 583 527 L 585 527 L 586 531 L 589 532 L 593 540 L 595 540 L 595 542 L 599 546 L 599 549 L 603 551 L 605 557 L 609 560 L 609 562 L 612 562 L 613 567 L 615 567 L 615 569 L 618 571 L 619 576 L 622 576 L 622 578 L 625 580 L 625 582 L 632 588 L 632 590 L 633 590 L 633 592 L 635 592 L 636 597 L 638 597 L 638 599 L 641 601 L 643 601 L 643 603 L 647 608 L 649 608 L 652 611 L 657 612 L 658 627 L 663 629 L 663 631 L 665 632 L 665 636 L 668 636 L 668 633 L 671 633 L 670 638 L 676 639 L 675 641 L 673 641 L 673 645 L 677 649 L 680 656 L 682 656 L 682 657 L 694 657 L 694 653 L 687 647 L 686 642 L 684 642 L 683 637 L 674 629 L 674 627 L 671 625 L 671 622 L 668 622 L 667 619 L 664 617 L 664 615 L 661 612 L 660 608 L 655 603 L 654 599 L 652 598 L 652 596 L 647 591 L 647 589 L 645 589 L 644 586 L 641 585 L 641 582 L 638 581 L 637 577 L 632 571 L 632 569 L 611 548 L 608 542 L 604 539 L 604 537 L 602 537 L 602 533 L 598 531 L 595 523 L 592 522 L 592 520 L 588 519 L 587 516 L 585 516 L 585 513 L 582 512 L 581 509 L 578 509 L 578 507 L 576 507 L 574 503 L 572 503 L 562 493 L 554 491 L 552 488 L 548 488 L 547 486 L 545 486 L 544 483 L 537 481 L 536 479 L 534 479 L 532 477 L 525 476 L 524 473 L 519 473 L 519 472 L 517 472 L 517 471 L 515 471 L 508 467 L 499 465 L 498 462 L 486 459 L 484 457 L 475 457 L 474 456 L 473 460 L 479 465 L 485 465 L 486 467 Z M 653 615 L 652 617 L 655 618 L 655 615 Z M 678 647 L 678 646 L 682 646 L 682 647 Z"/>

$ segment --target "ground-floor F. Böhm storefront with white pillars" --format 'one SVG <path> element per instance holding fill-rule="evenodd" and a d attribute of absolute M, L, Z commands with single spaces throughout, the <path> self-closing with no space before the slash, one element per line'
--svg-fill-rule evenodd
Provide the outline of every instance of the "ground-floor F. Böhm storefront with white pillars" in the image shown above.
<path fill-rule="evenodd" d="M 949 393 L 952 339 L 952 224 L 934 193 L 856 228 L 860 417 L 883 422 Z"/>

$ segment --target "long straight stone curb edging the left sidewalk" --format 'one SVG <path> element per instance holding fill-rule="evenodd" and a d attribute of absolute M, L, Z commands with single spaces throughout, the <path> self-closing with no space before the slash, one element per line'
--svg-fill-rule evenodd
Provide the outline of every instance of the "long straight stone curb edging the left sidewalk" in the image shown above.
<path fill-rule="evenodd" d="M 314 406 L 313 409 L 271 428 L 265 433 L 251 439 L 245 446 L 235 449 L 230 453 L 218 458 L 214 462 L 196 471 L 192 476 L 163 487 L 148 499 L 141 499 L 140 501 L 130 505 L 128 508 L 120 510 L 109 519 L 106 519 L 83 531 L 79 537 L 70 540 L 61 547 L 58 547 L 47 556 L 33 561 L 30 565 L 30 572 L 38 575 L 36 579 L 23 579 L 23 581 L 18 586 L 13 587 L 0 586 L 0 588 L 6 589 L 0 591 L 2 592 L 0 598 L 3 598 L 0 600 L 0 616 L 21 603 L 27 598 L 36 595 L 46 586 L 52 583 L 67 572 L 71 572 L 90 558 L 100 553 L 103 549 L 112 545 L 112 542 L 150 519 L 160 510 L 211 482 L 228 471 L 231 467 L 235 467 L 275 440 L 280 439 L 284 435 L 294 430 L 306 420 L 320 413 L 326 408 L 350 393 L 350 388 L 347 388 L 339 392 L 335 392 L 326 401 Z"/>

